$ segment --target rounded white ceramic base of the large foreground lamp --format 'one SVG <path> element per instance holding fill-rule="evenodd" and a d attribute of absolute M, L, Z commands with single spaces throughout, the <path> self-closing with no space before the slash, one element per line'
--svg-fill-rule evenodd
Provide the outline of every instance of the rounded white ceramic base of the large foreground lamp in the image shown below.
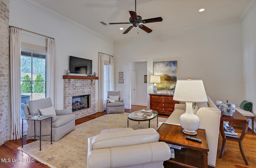
<path fill-rule="evenodd" d="M 200 119 L 192 111 L 192 102 L 186 102 L 186 112 L 180 115 L 180 126 L 183 133 L 188 135 L 196 135 L 196 130 L 200 126 Z"/>

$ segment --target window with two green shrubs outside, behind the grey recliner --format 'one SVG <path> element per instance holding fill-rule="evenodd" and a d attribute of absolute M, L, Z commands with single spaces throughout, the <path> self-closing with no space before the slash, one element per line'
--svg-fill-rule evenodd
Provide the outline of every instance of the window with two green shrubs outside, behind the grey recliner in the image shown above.
<path fill-rule="evenodd" d="M 21 105 L 46 97 L 46 54 L 21 51 L 20 81 Z M 24 117 L 21 109 L 21 118 Z"/>

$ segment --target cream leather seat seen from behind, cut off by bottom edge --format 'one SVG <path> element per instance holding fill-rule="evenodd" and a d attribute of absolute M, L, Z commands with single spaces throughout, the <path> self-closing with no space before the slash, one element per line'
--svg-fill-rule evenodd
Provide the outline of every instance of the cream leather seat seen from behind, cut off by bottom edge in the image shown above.
<path fill-rule="evenodd" d="M 88 138 L 87 168 L 162 168 L 171 151 L 158 140 L 153 128 L 102 130 Z"/>

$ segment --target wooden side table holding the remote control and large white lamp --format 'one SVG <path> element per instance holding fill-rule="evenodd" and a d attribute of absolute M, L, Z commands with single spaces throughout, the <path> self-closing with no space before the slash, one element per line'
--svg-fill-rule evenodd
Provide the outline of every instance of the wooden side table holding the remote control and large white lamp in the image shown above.
<path fill-rule="evenodd" d="M 163 123 L 157 131 L 160 134 L 159 141 L 184 147 L 181 150 L 174 149 L 175 158 L 170 158 L 167 162 L 188 168 L 207 168 L 209 147 L 205 130 L 198 129 L 197 135 L 189 135 L 202 140 L 202 143 L 197 143 L 187 140 L 185 138 L 187 135 L 182 132 L 182 129 L 178 125 Z"/>

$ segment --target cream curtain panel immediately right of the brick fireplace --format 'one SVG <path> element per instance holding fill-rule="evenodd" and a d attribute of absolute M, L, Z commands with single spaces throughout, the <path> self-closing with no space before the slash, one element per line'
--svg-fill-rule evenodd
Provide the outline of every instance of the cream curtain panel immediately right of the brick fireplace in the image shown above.
<path fill-rule="evenodd" d="M 98 64 L 98 77 L 99 77 L 99 111 L 104 111 L 103 106 L 103 91 L 104 91 L 104 57 L 103 53 L 99 53 L 99 64 Z"/>

